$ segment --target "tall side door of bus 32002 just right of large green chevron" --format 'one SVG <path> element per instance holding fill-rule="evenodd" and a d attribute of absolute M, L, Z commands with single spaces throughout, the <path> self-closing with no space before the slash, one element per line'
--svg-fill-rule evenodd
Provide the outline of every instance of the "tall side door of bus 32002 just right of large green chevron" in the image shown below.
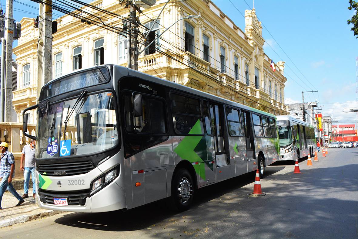
<path fill-rule="evenodd" d="M 210 115 L 215 145 L 216 182 L 230 178 L 230 163 L 227 152 L 227 135 L 224 122 L 224 107 L 210 103 Z"/>

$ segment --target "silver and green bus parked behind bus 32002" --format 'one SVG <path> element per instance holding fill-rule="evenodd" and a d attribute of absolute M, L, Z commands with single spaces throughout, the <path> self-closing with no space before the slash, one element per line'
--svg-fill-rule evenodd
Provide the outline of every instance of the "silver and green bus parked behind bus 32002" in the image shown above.
<path fill-rule="evenodd" d="M 280 160 L 301 159 L 316 150 L 315 128 L 307 122 L 285 115 L 276 116 L 280 138 Z"/>

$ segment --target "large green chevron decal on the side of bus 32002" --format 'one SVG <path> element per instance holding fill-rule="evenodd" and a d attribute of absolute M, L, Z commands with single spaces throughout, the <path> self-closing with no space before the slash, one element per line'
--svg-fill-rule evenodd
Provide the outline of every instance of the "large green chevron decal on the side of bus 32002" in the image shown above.
<path fill-rule="evenodd" d="M 202 163 L 205 160 L 213 159 L 213 155 L 208 150 L 211 146 L 211 140 L 209 136 L 201 136 L 202 128 L 200 120 L 198 120 L 193 128 L 189 131 L 189 135 L 185 136 L 179 145 L 174 149 L 174 152 L 182 159 L 188 160 L 190 163 L 199 162 Z M 199 136 L 190 136 L 199 135 Z M 214 170 L 213 164 L 205 162 L 211 170 Z M 199 164 L 193 165 L 195 172 L 200 175 L 200 178 L 206 180 L 205 168 L 199 168 Z"/>

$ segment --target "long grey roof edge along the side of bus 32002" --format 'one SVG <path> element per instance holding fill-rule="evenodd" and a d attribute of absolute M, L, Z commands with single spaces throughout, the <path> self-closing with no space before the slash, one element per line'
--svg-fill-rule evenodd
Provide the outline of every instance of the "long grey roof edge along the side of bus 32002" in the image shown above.
<path fill-rule="evenodd" d="M 118 66 L 118 67 L 127 68 L 127 67 L 124 67 L 124 66 Z M 127 68 L 127 69 L 128 69 L 128 68 Z M 155 76 L 146 74 L 146 73 L 144 73 L 144 72 L 136 71 L 136 70 L 133 70 L 133 69 L 128 69 L 128 74 L 131 75 L 131 76 L 136 76 L 136 77 L 139 77 L 139 78 L 142 78 L 142 79 L 151 81 L 151 82 L 153 82 L 153 83 L 165 85 L 165 86 L 168 86 L 168 87 L 171 87 L 171 88 L 175 88 L 175 89 L 178 89 L 178 90 L 183 90 L 183 91 L 185 91 L 185 92 L 189 92 L 189 93 L 192 93 L 192 94 L 195 94 L 195 95 L 199 95 L 199 96 L 201 96 L 201 97 L 205 97 L 205 98 L 209 98 L 209 99 L 212 99 L 212 100 L 216 100 L 216 101 L 221 102 L 221 103 L 224 103 L 224 104 L 233 105 L 233 106 L 236 106 L 236 107 L 238 107 L 238 108 L 246 109 L 246 110 L 248 110 L 248 111 L 253 111 L 253 112 L 256 112 L 256 113 L 259 113 L 259 114 L 263 114 L 263 115 L 266 115 L 266 116 L 270 116 L 270 117 L 272 117 L 272 118 L 276 118 L 276 116 L 275 116 L 274 114 L 267 113 L 267 112 L 265 112 L 265 111 L 261 111 L 261 110 L 259 110 L 259 109 L 255 109 L 255 108 L 252 108 L 252 107 L 249 107 L 249 106 L 245 106 L 245 105 L 243 105 L 243 104 L 240 104 L 240 103 L 237 103 L 237 102 L 233 102 L 233 101 L 231 101 L 231 100 L 227 100 L 227 99 L 218 97 L 218 96 L 216 96 L 216 95 L 212 95 L 212 94 L 209 94 L 209 93 L 205 93 L 205 92 L 202 92 L 202 91 L 200 91 L 200 90 L 190 88 L 190 87 L 188 87 L 188 86 L 180 85 L 180 84 L 178 84 L 178 83 L 174 83 L 174 82 L 171 82 L 171 81 L 169 81 L 169 80 L 164 80 L 164 79 L 161 79 L 161 78 L 158 78 L 158 77 L 155 77 Z"/>

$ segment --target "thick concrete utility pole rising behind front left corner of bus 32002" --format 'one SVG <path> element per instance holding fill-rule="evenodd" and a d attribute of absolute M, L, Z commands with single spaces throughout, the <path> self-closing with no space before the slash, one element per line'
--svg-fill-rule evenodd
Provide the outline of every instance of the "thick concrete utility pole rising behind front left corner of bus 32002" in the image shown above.
<path fill-rule="evenodd" d="M 39 7 L 39 43 L 37 50 L 37 98 L 41 87 L 52 80 L 52 0 Z"/>

